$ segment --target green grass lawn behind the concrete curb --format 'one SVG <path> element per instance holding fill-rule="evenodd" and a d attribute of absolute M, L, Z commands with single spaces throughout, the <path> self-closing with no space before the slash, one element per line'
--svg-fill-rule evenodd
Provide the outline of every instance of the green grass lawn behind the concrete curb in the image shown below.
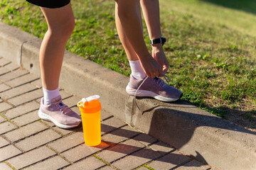
<path fill-rule="evenodd" d="M 183 100 L 223 118 L 233 111 L 255 128 L 256 3 L 248 0 L 160 0 L 169 83 Z M 114 25 L 114 1 L 73 0 L 75 30 L 67 50 L 129 76 Z M 1 0 L 0 20 L 43 38 L 40 9 L 24 1 Z M 149 36 L 144 26 L 146 42 Z M 150 49 L 150 47 L 149 47 Z"/>

